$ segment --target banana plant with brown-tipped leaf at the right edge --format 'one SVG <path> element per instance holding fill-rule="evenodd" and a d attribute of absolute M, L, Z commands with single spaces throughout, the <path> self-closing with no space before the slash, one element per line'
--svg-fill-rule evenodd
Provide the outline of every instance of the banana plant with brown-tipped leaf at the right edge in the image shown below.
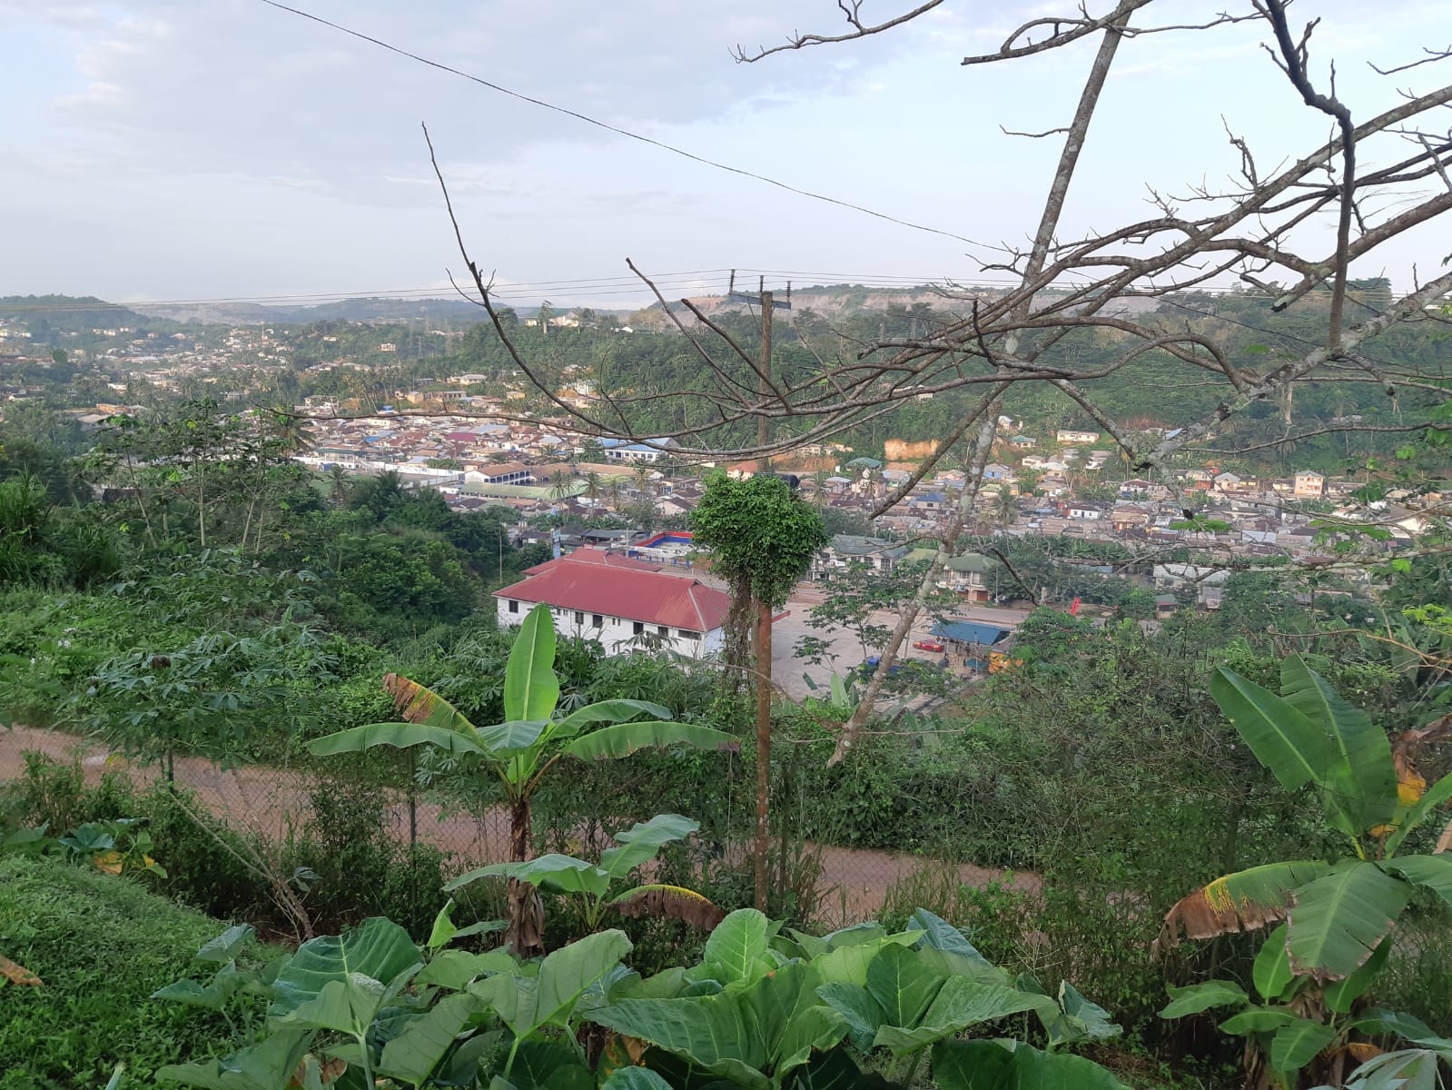
<path fill-rule="evenodd" d="M 1279 926 L 1255 964 L 1260 1004 L 1237 982 L 1217 980 L 1175 990 L 1162 1014 L 1239 1007 L 1221 1029 L 1249 1039 L 1249 1061 L 1265 1067 L 1266 1080 L 1289 1086 L 1317 1058 L 1339 1064 L 1353 1032 L 1391 1025 L 1381 1014 L 1358 1016 L 1353 1004 L 1385 964 L 1417 889 L 1452 904 L 1452 856 L 1400 855 L 1435 807 L 1452 798 L 1452 775 L 1427 788 L 1413 757 L 1435 731 L 1407 731 L 1394 747 L 1300 655 L 1282 661 L 1279 696 L 1224 667 L 1211 679 L 1211 695 L 1284 789 L 1316 788 L 1347 852 L 1225 875 L 1175 904 L 1162 948 L 1182 934 Z"/>

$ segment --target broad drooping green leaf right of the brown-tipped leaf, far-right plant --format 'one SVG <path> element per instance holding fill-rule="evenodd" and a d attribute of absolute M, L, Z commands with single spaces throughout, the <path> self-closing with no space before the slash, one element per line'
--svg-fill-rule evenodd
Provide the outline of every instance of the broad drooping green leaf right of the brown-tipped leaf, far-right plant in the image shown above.
<path fill-rule="evenodd" d="M 1387 937 L 1410 897 L 1411 887 L 1363 862 L 1297 889 L 1286 939 L 1291 968 L 1317 980 L 1349 977 Z"/>

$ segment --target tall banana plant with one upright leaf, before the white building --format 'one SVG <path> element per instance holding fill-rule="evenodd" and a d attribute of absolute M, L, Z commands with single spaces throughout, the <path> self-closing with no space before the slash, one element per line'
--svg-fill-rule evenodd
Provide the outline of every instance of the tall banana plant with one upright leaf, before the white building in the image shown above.
<path fill-rule="evenodd" d="M 317 756 L 330 756 L 375 746 L 434 746 L 460 764 L 492 775 L 510 812 L 510 859 L 523 863 L 533 847 L 530 801 L 540 780 L 563 757 L 604 760 L 645 747 L 716 748 L 733 741 L 725 731 L 675 722 L 668 708 L 649 701 L 598 701 L 558 716 L 559 677 L 553 667 L 555 622 L 549 606 L 542 603 L 530 610 L 510 648 L 504 670 L 504 722 L 475 727 L 457 708 L 418 682 L 388 674 L 383 687 L 393 698 L 402 722 L 338 731 L 308 748 Z M 637 719 L 640 715 L 650 718 Z M 534 956 L 544 949 L 539 894 L 518 878 L 510 878 L 505 942 L 520 956 Z"/>

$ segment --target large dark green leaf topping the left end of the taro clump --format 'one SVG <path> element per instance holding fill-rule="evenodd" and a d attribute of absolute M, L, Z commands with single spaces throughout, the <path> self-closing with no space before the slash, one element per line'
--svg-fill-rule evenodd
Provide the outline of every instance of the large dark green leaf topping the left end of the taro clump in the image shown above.
<path fill-rule="evenodd" d="M 370 917 L 351 932 L 309 939 L 299 946 L 273 981 L 267 1014 L 286 1017 L 305 1003 L 319 1000 L 330 984 L 375 981 L 388 987 L 423 961 L 408 932 L 382 916 Z M 356 998 L 337 988 L 330 994 L 334 1004 L 351 1004 Z"/>

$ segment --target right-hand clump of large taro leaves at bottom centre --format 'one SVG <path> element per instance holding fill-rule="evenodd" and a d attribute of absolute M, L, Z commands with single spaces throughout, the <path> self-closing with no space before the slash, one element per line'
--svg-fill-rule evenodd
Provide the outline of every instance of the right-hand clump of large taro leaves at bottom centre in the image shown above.
<path fill-rule="evenodd" d="M 1117 1032 L 1106 1019 L 1060 1032 L 1047 1051 L 1012 1039 L 955 1041 L 1025 1012 L 1045 1028 L 1069 1023 L 1060 1003 L 1019 987 L 932 913 L 919 910 L 897 933 L 865 924 L 788 937 L 777 929 L 752 908 L 735 911 L 711 933 L 700 965 L 652 977 L 590 1017 L 646 1042 L 642 1062 L 671 1086 L 886 1089 L 912 1084 L 925 1059 L 944 1090 L 1121 1086 L 1060 1051 L 1070 1039 Z M 868 1064 L 884 1067 L 886 1078 L 867 1074 Z"/>

